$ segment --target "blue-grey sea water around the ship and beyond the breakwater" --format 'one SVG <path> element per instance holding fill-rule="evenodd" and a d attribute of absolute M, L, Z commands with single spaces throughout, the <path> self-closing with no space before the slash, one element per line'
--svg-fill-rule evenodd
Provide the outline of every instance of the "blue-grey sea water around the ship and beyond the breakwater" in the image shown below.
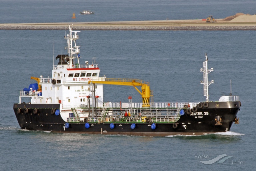
<path fill-rule="evenodd" d="M 255 13 L 246 0 L 3 0 L 1 23 L 225 18 Z M 91 10 L 94 15 L 79 15 Z M 77 18 L 72 20 L 73 12 Z M 67 28 L 68 29 L 68 28 Z M 80 61 L 96 62 L 100 76 L 150 82 L 154 102 L 205 101 L 200 68 L 208 53 L 210 101 L 239 95 L 240 124 L 225 133 L 141 137 L 21 130 L 13 111 L 30 77 L 51 77 L 66 53 L 65 30 L 0 30 L 0 170 L 255 170 L 255 31 L 81 31 Z M 133 87 L 104 85 L 104 101 L 141 102 Z M 232 156 L 223 163 L 200 161 Z M 207 156 L 210 158 L 198 158 Z M 239 164 L 238 164 L 239 161 Z M 234 163 L 236 162 L 236 163 Z M 243 162 L 241 164 L 240 162 Z"/>

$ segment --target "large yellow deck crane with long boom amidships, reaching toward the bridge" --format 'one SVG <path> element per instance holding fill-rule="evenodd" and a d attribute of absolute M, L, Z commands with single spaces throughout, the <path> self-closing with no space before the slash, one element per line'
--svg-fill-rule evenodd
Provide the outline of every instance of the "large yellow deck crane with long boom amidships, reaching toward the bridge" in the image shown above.
<path fill-rule="evenodd" d="M 139 79 L 104 78 L 104 81 L 88 81 L 88 84 L 90 83 L 133 86 L 142 96 L 142 107 L 150 107 L 150 96 L 153 98 L 153 95 L 151 95 L 149 82 L 144 82 L 143 80 Z M 141 92 L 136 86 L 141 86 Z"/>

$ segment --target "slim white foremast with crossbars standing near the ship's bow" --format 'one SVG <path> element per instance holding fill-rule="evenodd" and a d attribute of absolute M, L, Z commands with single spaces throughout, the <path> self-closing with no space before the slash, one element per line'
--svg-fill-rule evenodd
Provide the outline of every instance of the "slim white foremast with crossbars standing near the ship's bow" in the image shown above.
<path fill-rule="evenodd" d="M 204 81 L 201 81 L 201 84 L 204 85 L 204 96 L 205 96 L 205 101 L 209 102 L 209 95 L 208 95 L 208 86 L 213 84 L 213 80 L 211 82 L 208 82 L 208 73 L 210 73 L 211 71 L 213 71 L 213 68 L 211 68 L 210 70 L 208 70 L 208 57 L 207 57 L 207 53 L 204 54 L 205 56 L 205 61 L 203 62 L 203 68 L 200 69 L 200 72 L 203 72 L 203 79 Z"/>

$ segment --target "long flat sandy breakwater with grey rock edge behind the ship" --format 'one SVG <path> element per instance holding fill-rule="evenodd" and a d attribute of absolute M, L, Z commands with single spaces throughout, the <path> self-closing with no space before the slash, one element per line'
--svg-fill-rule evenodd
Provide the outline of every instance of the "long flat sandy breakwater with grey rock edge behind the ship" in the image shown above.
<path fill-rule="evenodd" d="M 70 23 L 0 24 L 2 30 L 66 30 Z M 256 23 L 194 20 L 72 23 L 74 30 L 256 30 Z"/>

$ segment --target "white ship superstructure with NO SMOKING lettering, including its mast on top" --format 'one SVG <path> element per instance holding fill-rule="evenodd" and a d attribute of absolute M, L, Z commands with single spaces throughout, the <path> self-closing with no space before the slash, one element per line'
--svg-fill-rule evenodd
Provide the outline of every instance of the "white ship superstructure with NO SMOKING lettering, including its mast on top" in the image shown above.
<path fill-rule="evenodd" d="M 52 78 L 38 78 L 39 89 L 30 91 L 20 91 L 20 103 L 22 97 L 30 97 L 31 104 L 62 104 L 62 108 L 79 108 L 98 106 L 103 103 L 103 85 L 88 84 L 90 80 L 102 80 L 99 77 L 100 69 L 97 63 L 92 61 L 89 64 L 85 61 L 84 65 L 79 62 L 80 46 L 77 46 L 77 34 L 80 31 L 73 31 L 69 26 L 69 34 L 65 35 L 67 40 L 68 54 L 58 55 L 58 65 L 53 65 Z M 41 87 L 41 88 L 40 88 Z M 95 94 L 94 91 L 95 90 Z"/>

